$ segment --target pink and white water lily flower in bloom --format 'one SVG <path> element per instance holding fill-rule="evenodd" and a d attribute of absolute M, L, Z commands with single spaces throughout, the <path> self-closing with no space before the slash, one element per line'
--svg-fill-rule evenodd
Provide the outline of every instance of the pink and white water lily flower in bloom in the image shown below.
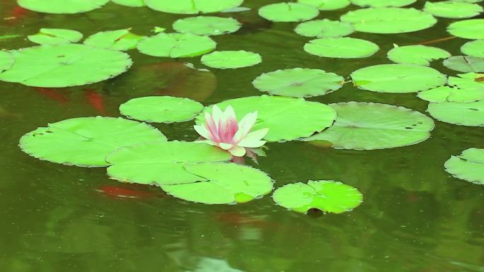
<path fill-rule="evenodd" d="M 235 157 L 243 157 L 250 148 L 259 148 L 266 143 L 262 138 L 269 129 L 250 132 L 257 121 L 257 115 L 258 112 L 251 112 L 241 122 L 237 122 L 233 107 L 228 106 L 222 112 L 214 105 L 212 114 L 205 112 L 205 124 L 193 127 L 206 139 L 205 143 L 227 150 Z"/>

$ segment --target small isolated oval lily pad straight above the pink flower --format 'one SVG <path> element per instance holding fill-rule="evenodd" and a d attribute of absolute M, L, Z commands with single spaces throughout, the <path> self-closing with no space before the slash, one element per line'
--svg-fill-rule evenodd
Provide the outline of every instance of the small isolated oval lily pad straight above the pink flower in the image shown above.
<path fill-rule="evenodd" d="M 202 57 L 202 64 L 217 69 L 237 69 L 262 62 L 260 54 L 248 51 L 215 51 Z"/>

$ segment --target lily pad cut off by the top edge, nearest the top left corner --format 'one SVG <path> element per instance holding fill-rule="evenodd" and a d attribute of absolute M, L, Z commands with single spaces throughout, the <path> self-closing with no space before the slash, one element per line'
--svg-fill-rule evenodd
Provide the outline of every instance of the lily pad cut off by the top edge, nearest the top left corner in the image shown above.
<path fill-rule="evenodd" d="M 18 0 L 17 4 L 30 11 L 43 13 L 83 13 L 101 8 L 109 0 Z"/>

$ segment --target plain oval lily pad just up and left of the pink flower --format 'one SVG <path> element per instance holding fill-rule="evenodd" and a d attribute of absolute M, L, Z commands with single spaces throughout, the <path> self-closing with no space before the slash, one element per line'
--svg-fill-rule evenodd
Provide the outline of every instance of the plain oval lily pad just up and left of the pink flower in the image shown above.
<path fill-rule="evenodd" d="M 145 122 L 173 123 L 189 121 L 202 112 L 197 101 L 173 96 L 148 96 L 129 100 L 120 106 L 121 114 Z"/>

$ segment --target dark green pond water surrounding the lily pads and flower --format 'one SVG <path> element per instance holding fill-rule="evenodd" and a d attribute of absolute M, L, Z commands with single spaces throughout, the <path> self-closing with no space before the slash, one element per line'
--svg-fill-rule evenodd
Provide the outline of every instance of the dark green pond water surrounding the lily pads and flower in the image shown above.
<path fill-rule="evenodd" d="M 18 148 L 18 138 L 48 122 L 119 116 L 117 107 L 132 97 L 178 95 L 211 105 L 260 95 L 250 82 L 276 69 L 317 68 L 347 77 L 365 66 L 390 63 L 386 52 L 393 43 L 413 45 L 448 37 L 446 25 L 454 21 L 439 18 L 433 28 L 410 34 L 357 32 L 351 36 L 376 42 L 381 50 L 367 59 L 324 59 L 302 50 L 310 39 L 292 31 L 296 23 L 269 23 L 258 17 L 257 8 L 273 2 L 246 0 L 243 6 L 252 11 L 224 15 L 241 20 L 243 28 L 214 37 L 219 50 L 258 52 L 263 57 L 258 66 L 202 73 L 181 64 L 202 67 L 199 57 L 173 60 L 132 50 L 132 69 L 102 83 L 53 90 L 0 83 L 0 271 L 484 271 L 484 187 L 452 178 L 443 167 L 450 155 L 484 148 L 483 127 L 436 122 L 427 141 L 388 150 L 268 144 L 267 157 L 260 158 L 258 167 L 277 187 L 335 179 L 364 194 L 364 203 L 355 211 L 319 217 L 285 211 L 270 196 L 236 206 L 207 206 L 168 197 L 156 188 L 136 187 L 143 197 L 122 199 L 102 192 L 106 186 L 122 186 L 108 179 L 103 168 L 43 162 Z M 422 8 L 423 3 L 413 6 Z M 171 29 L 174 20 L 184 17 L 108 4 L 84 14 L 27 12 L 1 20 L 14 16 L 15 6 L 13 1 L 0 2 L 0 36 L 22 37 L 0 40 L 0 48 L 33 46 L 24 37 L 41 27 L 71 28 L 85 36 L 132 27 L 137 34 L 149 35 L 154 26 Z M 318 18 L 338 19 L 356 8 L 321 12 Z M 464 42 L 446 40 L 434 46 L 459 55 Z M 436 62 L 432 66 L 442 73 L 456 74 Z M 427 108 L 413 93 L 373 93 L 351 84 L 310 100 L 381 102 L 420 112 Z M 192 122 L 157 127 L 170 139 L 197 138 Z"/>

